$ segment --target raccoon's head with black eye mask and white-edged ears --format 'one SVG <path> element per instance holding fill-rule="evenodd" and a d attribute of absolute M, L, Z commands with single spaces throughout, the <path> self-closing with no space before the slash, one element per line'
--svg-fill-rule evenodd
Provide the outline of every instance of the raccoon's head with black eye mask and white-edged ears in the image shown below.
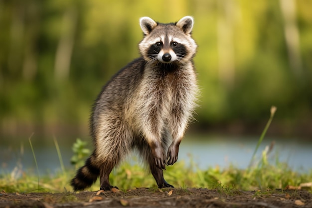
<path fill-rule="evenodd" d="M 140 18 L 144 38 L 139 49 L 148 62 L 186 63 L 196 52 L 191 37 L 193 18 L 185 16 L 176 23 L 161 24 L 150 17 Z"/>

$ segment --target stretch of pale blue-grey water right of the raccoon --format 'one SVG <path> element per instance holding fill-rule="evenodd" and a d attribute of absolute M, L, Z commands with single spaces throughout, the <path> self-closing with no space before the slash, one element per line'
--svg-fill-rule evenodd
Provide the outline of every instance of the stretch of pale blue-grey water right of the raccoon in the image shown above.
<path fill-rule="evenodd" d="M 184 142 L 184 141 L 183 141 Z M 215 137 L 210 140 L 191 141 L 180 145 L 179 159 L 189 163 L 189 155 L 200 169 L 233 165 L 241 169 L 248 167 L 258 143 L 258 138 Z M 303 143 L 298 139 L 265 138 L 260 145 L 256 159 L 260 159 L 266 147 L 274 143 L 268 159 L 275 164 L 276 160 L 285 162 L 298 172 L 312 170 L 312 143 Z M 256 160 L 257 161 L 257 160 Z"/>

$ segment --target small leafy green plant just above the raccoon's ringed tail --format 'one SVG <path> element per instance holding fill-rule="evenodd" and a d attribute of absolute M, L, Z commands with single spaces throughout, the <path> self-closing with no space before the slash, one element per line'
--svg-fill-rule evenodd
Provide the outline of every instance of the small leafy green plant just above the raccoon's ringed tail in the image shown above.
<path fill-rule="evenodd" d="M 73 144 L 72 151 L 74 155 L 70 159 L 70 163 L 75 166 L 75 168 L 79 168 L 83 166 L 86 157 L 90 155 L 90 149 L 88 149 L 87 142 L 80 140 L 77 138 L 76 142 Z"/>

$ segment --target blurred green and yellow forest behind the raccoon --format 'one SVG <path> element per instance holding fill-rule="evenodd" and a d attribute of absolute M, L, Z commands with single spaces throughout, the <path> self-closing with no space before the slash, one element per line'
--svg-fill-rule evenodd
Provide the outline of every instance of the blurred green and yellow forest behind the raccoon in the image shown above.
<path fill-rule="evenodd" d="M 311 0 L 0 0 L 0 136 L 88 135 L 101 87 L 140 55 L 139 18 L 185 15 L 201 88 L 191 131 L 260 135 L 275 105 L 271 134 L 312 137 Z"/>

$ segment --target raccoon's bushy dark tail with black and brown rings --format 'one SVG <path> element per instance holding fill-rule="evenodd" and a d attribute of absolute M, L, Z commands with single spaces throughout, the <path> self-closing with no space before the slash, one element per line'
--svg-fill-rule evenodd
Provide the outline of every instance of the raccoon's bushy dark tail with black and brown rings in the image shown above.
<path fill-rule="evenodd" d="M 70 181 L 70 185 L 74 191 L 84 190 L 91 187 L 100 175 L 100 169 L 94 165 L 95 159 L 92 154 L 87 160 L 84 166 L 82 166 L 76 173 L 76 176 Z"/>

